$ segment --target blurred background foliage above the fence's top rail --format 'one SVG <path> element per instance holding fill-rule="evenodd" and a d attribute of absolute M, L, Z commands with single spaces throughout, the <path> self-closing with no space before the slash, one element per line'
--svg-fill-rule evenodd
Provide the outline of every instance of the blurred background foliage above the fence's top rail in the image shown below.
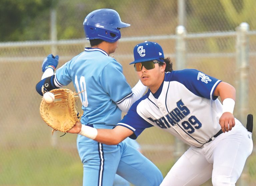
<path fill-rule="evenodd" d="M 124 30 L 125 36 L 174 34 L 178 24 L 176 1 L 1 0 L 0 41 L 48 40 L 51 9 L 57 11 L 58 40 L 84 38 L 82 23 L 92 6 L 117 10 L 134 30 Z M 189 33 L 229 31 L 241 22 L 256 28 L 251 16 L 256 10 L 254 0 L 186 0 L 185 8 Z"/>

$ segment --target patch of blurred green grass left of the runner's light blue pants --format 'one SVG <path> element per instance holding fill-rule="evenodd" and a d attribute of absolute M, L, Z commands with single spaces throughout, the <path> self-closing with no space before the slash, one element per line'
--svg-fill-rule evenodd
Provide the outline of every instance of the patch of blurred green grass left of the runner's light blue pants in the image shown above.
<path fill-rule="evenodd" d="M 77 152 L 56 148 L 11 149 L 1 158 L 0 185 L 82 185 Z M 77 155 L 76 155 L 77 154 Z"/>

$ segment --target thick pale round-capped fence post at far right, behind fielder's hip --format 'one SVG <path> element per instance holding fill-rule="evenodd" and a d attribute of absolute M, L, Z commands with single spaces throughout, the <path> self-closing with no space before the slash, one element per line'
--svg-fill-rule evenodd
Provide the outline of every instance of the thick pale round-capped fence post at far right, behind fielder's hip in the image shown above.
<path fill-rule="evenodd" d="M 248 95 L 248 77 L 249 77 L 249 39 L 247 33 L 249 31 L 248 23 L 241 23 L 237 27 L 237 43 L 236 43 L 236 88 L 238 90 L 238 96 L 236 103 L 238 102 L 238 117 L 243 125 L 246 125 L 246 118 L 248 114 L 249 95 Z M 245 126 L 246 127 L 246 126 Z M 248 169 L 245 165 L 238 185 L 248 185 Z"/>

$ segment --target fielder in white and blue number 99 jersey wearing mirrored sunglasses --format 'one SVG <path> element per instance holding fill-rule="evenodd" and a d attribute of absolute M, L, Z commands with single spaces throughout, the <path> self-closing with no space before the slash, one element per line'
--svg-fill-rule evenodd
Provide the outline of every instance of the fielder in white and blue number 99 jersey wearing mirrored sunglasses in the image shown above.
<path fill-rule="evenodd" d="M 155 42 L 136 45 L 134 59 L 130 64 L 149 91 L 114 129 L 77 122 L 69 132 L 111 145 L 156 126 L 190 145 L 161 186 L 196 186 L 210 178 L 214 186 L 234 186 L 253 148 L 252 130 L 233 116 L 235 89 L 195 69 L 173 71 Z"/>

